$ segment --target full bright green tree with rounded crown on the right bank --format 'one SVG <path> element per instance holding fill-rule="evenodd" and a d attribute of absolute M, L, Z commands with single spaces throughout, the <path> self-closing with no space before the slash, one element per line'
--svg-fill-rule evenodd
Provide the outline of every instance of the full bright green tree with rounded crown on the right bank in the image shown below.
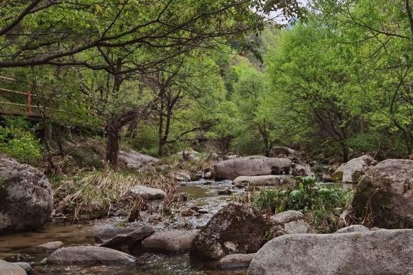
<path fill-rule="evenodd" d="M 349 157 L 348 140 L 357 132 L 356 109 L 350 102 L 360 94 L 352 76 L 346 47 L 334 46 L 333 32 L 316 19 L 284 31 L 275 54 L 266 65 L 273 89 L 286 95 L 286 106 L 304 127 L 314 127 L 317 136 L 341 147 L 343 161 Z"/>

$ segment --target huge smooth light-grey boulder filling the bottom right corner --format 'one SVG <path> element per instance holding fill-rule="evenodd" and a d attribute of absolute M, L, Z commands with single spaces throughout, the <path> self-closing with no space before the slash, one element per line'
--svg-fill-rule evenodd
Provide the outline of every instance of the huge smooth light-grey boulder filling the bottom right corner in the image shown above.
<path fill-rule="evenodd" d="M 413 230 L 293 234 L 255 254 L 248 275 L 413 274 Z"/>

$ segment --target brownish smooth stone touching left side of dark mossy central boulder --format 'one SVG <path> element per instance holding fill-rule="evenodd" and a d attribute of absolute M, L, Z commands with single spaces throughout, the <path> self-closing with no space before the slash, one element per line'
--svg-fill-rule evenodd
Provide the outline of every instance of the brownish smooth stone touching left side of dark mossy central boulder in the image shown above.
<path fill-rule="evenodd" d="M 197 230 L 156 232 L 142 241 L 142 250 L 160 253 L 187 252 L 197 234 Z"/>

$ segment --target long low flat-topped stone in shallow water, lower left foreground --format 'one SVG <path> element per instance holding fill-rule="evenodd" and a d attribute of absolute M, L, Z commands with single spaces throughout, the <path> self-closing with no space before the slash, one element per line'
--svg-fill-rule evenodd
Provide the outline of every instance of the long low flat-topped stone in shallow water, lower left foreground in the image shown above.
<path fill-rule="evenodd" d="M 47 258 L 54 265 L 113 264 L 134 263 L 136 258 L 124 252 L 99 246 L 74 246 L 60 248 Z"/>

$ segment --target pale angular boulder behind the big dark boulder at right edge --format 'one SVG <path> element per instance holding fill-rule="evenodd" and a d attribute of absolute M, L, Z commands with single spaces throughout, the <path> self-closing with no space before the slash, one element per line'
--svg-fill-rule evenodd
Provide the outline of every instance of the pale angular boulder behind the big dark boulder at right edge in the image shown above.
<path fill-rule="evenodd" d="M 375 163 L 376 161 L 370 155 L 362 155 L 361 157 L 350 159 L 335 170 L 332 180 L 343 182 L 344 184 L 357 184 L 360 177 Z"/>

